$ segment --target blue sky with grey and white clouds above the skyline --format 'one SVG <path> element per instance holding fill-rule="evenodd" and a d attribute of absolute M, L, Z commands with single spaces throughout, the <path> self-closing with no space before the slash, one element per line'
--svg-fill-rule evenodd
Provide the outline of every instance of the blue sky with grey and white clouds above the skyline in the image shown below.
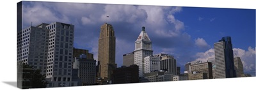
<path fill-rule="evenodd" d="M 214 57 L 213 45 L 231 36 L 235 56 L 242 59 L 244 73 L 255 76 L 255 10 L 138 6 L 84 3 L 23 3 L 22 28 L 33 22 L 74 24 L 74 47 L 88 49 L 97 60 L 100 26 L 108 23 L 116 35 L 116 63 L 134 50 L 134 41 L 145 26 L 154 54 L 172 54 L 184 71 L 189 61 Z"/>

